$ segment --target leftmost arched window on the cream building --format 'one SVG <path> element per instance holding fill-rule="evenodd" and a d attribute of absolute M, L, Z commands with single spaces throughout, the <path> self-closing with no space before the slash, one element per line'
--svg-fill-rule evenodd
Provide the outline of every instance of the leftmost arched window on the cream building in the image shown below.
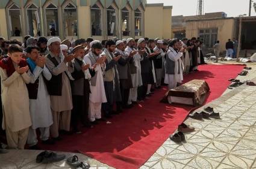
<path fill-rule="evenodd" d="M 8 14 L 11 37 L 21 37 L 20 8 L 12 4 L 8 8 Z"/>

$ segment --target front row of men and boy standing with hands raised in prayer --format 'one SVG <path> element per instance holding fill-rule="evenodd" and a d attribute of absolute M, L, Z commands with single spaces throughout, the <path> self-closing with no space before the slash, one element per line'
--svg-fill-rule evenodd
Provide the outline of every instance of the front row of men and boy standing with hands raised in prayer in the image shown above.
<path fill-rule="evenodd" d="M 160 88 L 163 79 L 169 89 L 183 80 L 186 47 L 179 40 L 169 41 L 169 47 L 162 40 L 107 40 L 104 49 L 100 41 L 87 42 L 86 48 L 78 41 L 72 49 L 61 43 L 50 38 L 46 56 L 28 46 L 26 60 L 12 44 L 0 62 L 2 126 L 10 148 L 23 149 L 26 141 L 38 148 L 37 128 L 42 143 L 54 144 L 70 125 L 79 133 L 80 120 L 91 127 L 104 120 L 101 110 L 111 117 L 150 96 L 152 85 Z"/>

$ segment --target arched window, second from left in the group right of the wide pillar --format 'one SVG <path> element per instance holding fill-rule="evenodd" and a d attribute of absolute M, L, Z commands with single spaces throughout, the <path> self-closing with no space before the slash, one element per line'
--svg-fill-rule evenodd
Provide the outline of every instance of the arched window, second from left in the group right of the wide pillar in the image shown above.
<path fill-rule="evenodd" d="M 112 6 L 107 8 L 107 31 L 108 36 L 116 35 L 116 10 Z"/>

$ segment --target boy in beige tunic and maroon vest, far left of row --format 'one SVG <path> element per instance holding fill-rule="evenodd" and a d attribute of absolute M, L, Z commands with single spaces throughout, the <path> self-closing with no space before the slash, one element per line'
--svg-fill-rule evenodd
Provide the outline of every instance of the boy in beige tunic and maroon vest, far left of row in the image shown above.
<path fill-rule="evenodd" d="M 7 144 L 11 149 L 24 149 L 31 126 L 30 101 L 25 83 L 30 83 L 27 62 L 22 59 L 22 48 L 11 44 L 8 58 L 0 61 L 3 123 Z"/>

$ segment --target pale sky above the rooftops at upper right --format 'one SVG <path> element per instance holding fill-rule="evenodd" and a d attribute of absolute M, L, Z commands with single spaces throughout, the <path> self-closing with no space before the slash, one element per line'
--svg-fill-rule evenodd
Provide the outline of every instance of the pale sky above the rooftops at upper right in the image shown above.
<path fill-rule="evenodd" d="M 253 0 L 256 2 L 256 0 Z M 190 16 L 196 14 L 198 0 L 147 0 L 148 4 L 164 3 L 172 6 L 172 16 Z M 253 4 L 252 4 L 253 6 Z M 249 0 L 204 0 L 204 13 L 225 12 L 228 17 L 237 17 L 240 14 L 249 14 Z M 251 16 L 256 16 L 254 7 Z"/>

